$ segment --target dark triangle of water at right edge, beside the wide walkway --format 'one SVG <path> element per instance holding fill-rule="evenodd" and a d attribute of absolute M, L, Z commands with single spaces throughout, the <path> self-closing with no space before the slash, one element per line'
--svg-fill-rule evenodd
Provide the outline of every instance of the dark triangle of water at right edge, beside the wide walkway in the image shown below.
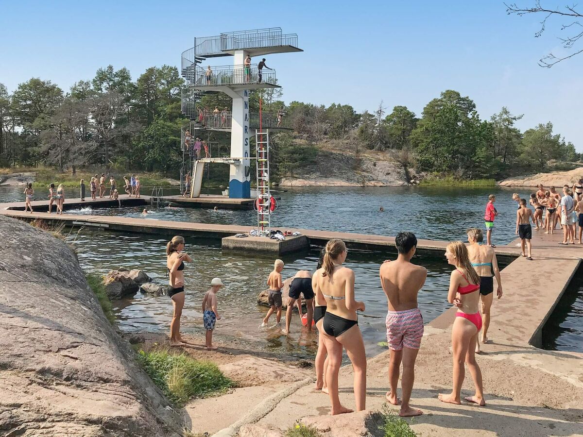
<path fill-rule="evenodd" d="M 579 267 L 543 328 L 543 348 L 583 353 L 583 267 Z"/>

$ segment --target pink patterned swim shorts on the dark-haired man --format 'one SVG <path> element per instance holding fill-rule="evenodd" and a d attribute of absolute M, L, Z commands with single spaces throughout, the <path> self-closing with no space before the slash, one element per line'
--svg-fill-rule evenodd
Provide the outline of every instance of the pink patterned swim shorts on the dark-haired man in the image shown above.
<path fill-rule="evenodd" d="M 423 316 L 419 308 L 405 311 L 389 311 L 387 319 L 387 343 L 389 349 L 401 351 L 403 347 L 419 349 L 423 337 Z"/>

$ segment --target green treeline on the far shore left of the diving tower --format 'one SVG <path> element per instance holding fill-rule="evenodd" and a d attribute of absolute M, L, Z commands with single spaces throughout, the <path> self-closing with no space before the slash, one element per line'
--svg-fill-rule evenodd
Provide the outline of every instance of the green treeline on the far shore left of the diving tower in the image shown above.
<path fill-rule="evenodd" d="M 0 84 L 0 166 L 86 165 L 170 171 L 181 162 L 180 91 L 173 66 L 99 69 L 64 92 L 30 79 L 9 94 Z"/>

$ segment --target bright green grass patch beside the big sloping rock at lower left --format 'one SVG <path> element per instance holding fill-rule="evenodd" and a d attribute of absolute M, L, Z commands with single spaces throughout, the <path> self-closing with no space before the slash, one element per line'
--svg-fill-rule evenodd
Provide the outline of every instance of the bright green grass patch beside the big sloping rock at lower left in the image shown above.
<path fill-rule="evenodd" d="M 233 387 L 216 364 L 167 350 L 138 351 L 138 360 L 153 382 L 176 406 L 193 397 L 208 397 Z"/>

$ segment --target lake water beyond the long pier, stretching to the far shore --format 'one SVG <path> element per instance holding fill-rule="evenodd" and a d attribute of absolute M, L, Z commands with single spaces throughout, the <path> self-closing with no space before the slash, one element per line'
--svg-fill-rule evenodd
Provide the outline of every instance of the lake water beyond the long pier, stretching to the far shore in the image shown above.
<path fill-rule="evenodd" d="M 22 190 L 20 187 L 0 187 L 0 199 L 3 202 L 23 200 Z M 70 191 L 69 196 L 78 195 L 77 190 Z M 147 195 L 150 191 L 145 188 L 142 192 Z M 400 231 L 413 231 L 418 238 L 465 241 L 466 228 L 484 227 L 488 195 L 494 193 L 498 196 L 496 208 L 500 215 L 494 224 L 493 241 L 508 244 L 516 238 L 517 203 L 512 200 L 513 191 L 498 187 L 296 188 L 276 193 L 281 199 L 272 225 L 393 236 Z M 178 192 L 167 189 L 164 193 L 171 195 Z M 524 189 L 518 193 L 522 198 L 530 195 Z M 45 199 L 44 192 L 37 190 L 35 198 Z M 384 207 L 384 213 L 378 212 L 380 206 Z M 142 217 L 142 210 L 138 207 L 91 209 L 88 203 L 83 210 L 68 213 Z M 257 215 L 252 210 L 167 207 L 148 214 L 147 218 L 238 225 L 257 223 Z"/>

